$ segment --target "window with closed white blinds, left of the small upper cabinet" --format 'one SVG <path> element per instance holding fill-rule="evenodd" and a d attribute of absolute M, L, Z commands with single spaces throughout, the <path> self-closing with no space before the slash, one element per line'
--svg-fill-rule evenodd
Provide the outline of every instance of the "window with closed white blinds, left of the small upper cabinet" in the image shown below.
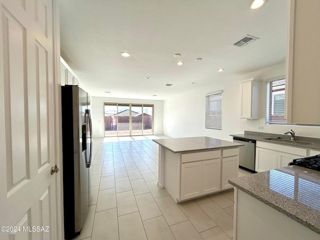
<path fill-rule="evenodd" d="M 205 128 L 221 130 L 222 91 L 205 96 Z"/>

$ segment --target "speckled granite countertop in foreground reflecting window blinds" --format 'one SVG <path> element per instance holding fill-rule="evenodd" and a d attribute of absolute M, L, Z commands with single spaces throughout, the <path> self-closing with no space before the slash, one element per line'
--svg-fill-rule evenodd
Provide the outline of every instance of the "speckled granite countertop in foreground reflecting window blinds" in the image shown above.
<path fill-rule="evenodd" d="M 293 165 L 228 182 L 320 234 L 320 171 Z"/>

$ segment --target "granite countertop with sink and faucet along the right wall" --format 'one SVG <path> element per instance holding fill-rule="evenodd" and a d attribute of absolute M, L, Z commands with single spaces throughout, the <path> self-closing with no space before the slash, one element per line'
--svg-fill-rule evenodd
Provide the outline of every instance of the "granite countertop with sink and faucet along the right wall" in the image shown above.
<path fill-rule="evenodd" d="M 256 141 L 263 141 L 273 144 L 280 144 L 286 146 L 293 146 L 293 147 L 300 147 L 305 149 L 312 149 L 312 150 L 320 150 L 320 138 L 315 137 L 305 137 L 305 136 L 295 136 L 295 141 L 290 141 L 291 135 L 284 135 L 284 134 L 274 134 L 274 133 L 267 133 L 267 132 L 257 132 L 257 131 L 244 131 L 244 134 L 230 134 L 230 136 L 238 136 L 247 139 L 252 139 Z M 284 141 L 274 141 L 268 140 L 265 138 L 280 138 L 289 140 L 288 142 Z M 308 142 L 310 144 L 303 144 L 300 142 Z"/>

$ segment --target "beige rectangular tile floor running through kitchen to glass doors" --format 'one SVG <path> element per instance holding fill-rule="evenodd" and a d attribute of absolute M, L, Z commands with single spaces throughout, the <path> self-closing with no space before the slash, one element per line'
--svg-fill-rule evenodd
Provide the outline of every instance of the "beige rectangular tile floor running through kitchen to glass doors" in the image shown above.
<path fill-rule="evenodd" d="M 233 189 L 176 204 L 157 186 L 156 137 L 165 136 L 93 139 L 90 206 L 75 239 L 232 239 Z"/>

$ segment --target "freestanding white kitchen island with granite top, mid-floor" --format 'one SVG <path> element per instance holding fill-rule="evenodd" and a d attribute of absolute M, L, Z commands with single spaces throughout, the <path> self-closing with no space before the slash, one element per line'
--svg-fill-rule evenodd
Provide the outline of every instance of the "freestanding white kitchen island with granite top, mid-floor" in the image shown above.
<path fill-rule="evenodd" d="M 175 202 L 232 188 L 238 175 L 239 146 L 212 137 L 153 139 L 159 144 L 158 186 Z"/>

